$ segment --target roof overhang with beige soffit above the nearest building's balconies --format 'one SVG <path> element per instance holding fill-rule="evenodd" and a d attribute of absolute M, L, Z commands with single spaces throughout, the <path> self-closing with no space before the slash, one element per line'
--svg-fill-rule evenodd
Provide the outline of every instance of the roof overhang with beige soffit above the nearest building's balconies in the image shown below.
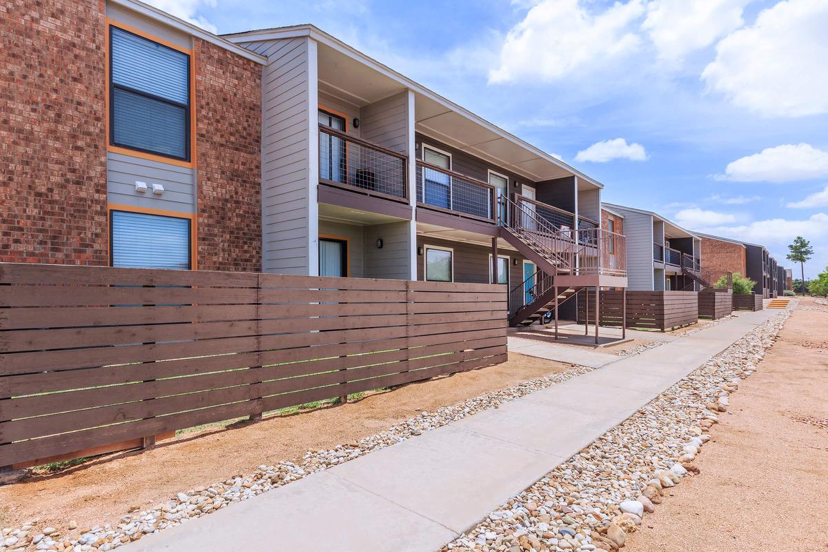
<path fill-rule="evenodd" d="M 299 36 L 306 36 L 319 45 L 320 89 L 342 94 L 355 105 L 370 103 L 410 89 L 414 93 L 417 132 L 512 170 L 529 180 L 576 176 L 582 185 L 604 187 L 564 161 L 522 141 L 313 25 L 284 26 L 223 37 L 228 41 L 244 43 Z"/>

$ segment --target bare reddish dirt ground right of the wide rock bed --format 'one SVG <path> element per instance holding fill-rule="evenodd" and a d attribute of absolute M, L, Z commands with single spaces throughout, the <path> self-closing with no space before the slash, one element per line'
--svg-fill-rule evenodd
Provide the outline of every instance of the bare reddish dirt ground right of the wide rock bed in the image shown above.
<path fill-rule="evenodd" d="M 816 307 L 811 299 L 800 305 Z M 630 552 L 828 550 L 828 307 L 797 310 Z"/>

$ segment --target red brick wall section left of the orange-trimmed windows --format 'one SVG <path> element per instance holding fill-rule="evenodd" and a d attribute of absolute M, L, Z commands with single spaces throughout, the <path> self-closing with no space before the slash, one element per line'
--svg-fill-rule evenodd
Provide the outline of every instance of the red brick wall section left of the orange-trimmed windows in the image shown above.
<path fill-rule="evenodd" d="M 103 0 L 0 5 L 0 262 L 106 265 Z"/>

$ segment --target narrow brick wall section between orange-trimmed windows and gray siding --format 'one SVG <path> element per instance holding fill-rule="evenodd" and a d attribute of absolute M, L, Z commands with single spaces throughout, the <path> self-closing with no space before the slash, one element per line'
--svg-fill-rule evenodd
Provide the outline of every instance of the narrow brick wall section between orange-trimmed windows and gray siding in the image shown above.
<path fill-rule="evenodd" d="M 261 271 L 262 65 L 195 39 L 200 270 Z"/>

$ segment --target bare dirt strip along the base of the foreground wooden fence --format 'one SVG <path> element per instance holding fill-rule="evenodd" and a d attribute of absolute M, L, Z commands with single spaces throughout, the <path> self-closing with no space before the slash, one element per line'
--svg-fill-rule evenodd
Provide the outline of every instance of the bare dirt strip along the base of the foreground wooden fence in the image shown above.
<path fill-rule="evenodd" d="M 152 506 L 176 492 L 251 473 L 260 464 L 296 461 L 308 450 L 377 434 L 420 410 L 454 405 L 567 367 L 510 353 L 508 362 L 498 366 L 412 383 L 345 405 L 182 434 L 142 454 L 96 458 L 0 487 L 0 527 L 17 527 L 35 517 L 40 518 L 38 526 L 59 530 L 70 520 L 79 528 L 114 524 L 132 505 Z"/>

